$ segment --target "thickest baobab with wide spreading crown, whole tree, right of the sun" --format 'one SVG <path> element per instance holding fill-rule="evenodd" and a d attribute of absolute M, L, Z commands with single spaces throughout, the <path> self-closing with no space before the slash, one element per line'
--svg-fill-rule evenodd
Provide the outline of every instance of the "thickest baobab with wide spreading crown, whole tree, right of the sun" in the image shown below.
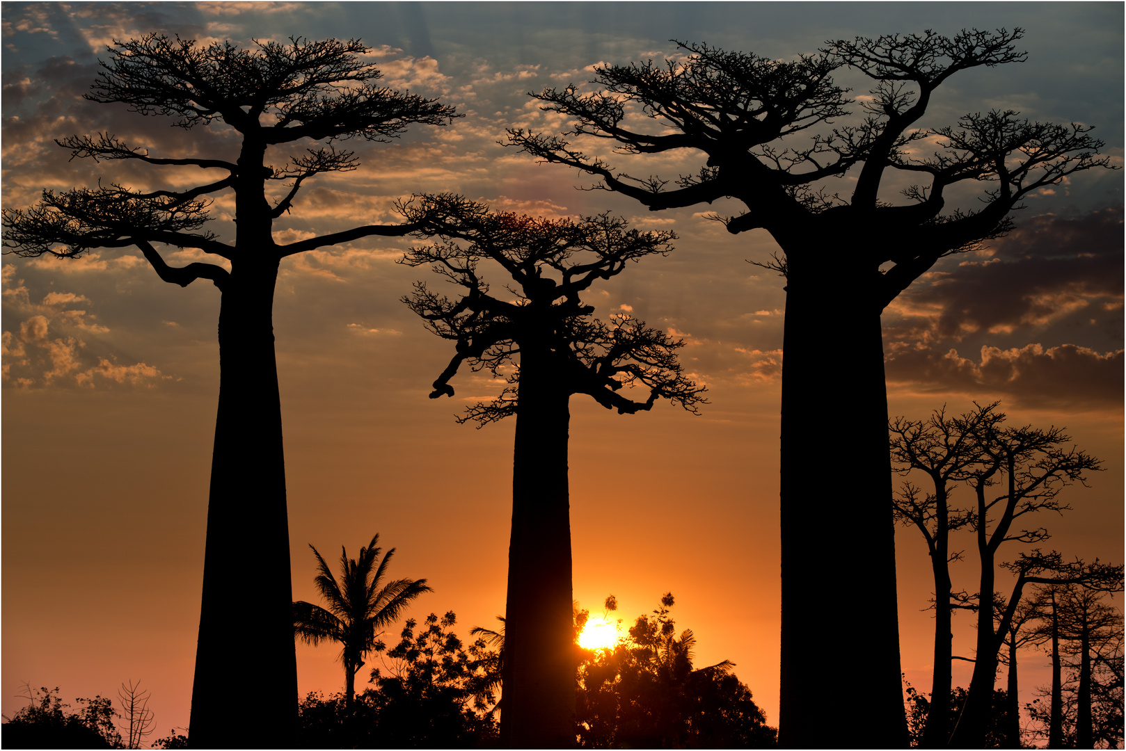
<path fill-rule="evenodd" d="M 933 91 L 955 73 L 1019 62 L 1020 29 L 933 32 L 835 41 L 816 55 L 772 60 L 679 44 L 688 52 L 595 69 L 596 90 L 575 86 L 533 95 L 561 113 L 563 135 L 510 131 L 510 143 L 547 162 L 596 176 L 596 187 L 629 196 L 651 211 L 734 198 L 743 212 L 722 218 L 727 231 L 767 230 L 783 258 L 767 263 L 786 275 L 781 396 L 781 741 L 815 745 L 824 725 L 849 726 L 849 703 L 824 692 L 868 698 L 865 733 L 846 742 L 897 746 L 906 739 L 900 687 L 894 525 L 887 459 L 887 399 L 879 315 L 933 263 L 1003 234 L 1009 212 L 1040 188 L 1105 167 L 1089 126 L 1030 123 L 1012 110 L 971 113 L 957 125 L 920 127 Z M 854 99 L 832 73 L 850 66 L 875 81 Z M 859 101 L 863 118 L 831 127 Z M 647 120 L 645 118 L 649 118 Z M 652 123 L 646 127 L 646 123 Z M 569 138 L 583 138 L 571 143 Z M 931 157 L 917 142 L 939 143 Z M 701 166 L 676 187 L 659 176 L 634 177 L 588 145 L 609 142 L 619 153 L 663 155 L 692 150 Z M 642 161 L 642 160 L 634 160 Z M 644 168 L 642 168 L 644 169 Z M 855 175 L 849 196 L 829 195 L 825 180 Z M 881 196 L 888 175 L 927 181 L 905 191 L 905 205 Z M 946 206 L 951 186 L 984 186 L 983 205 Z M 944 213 L 945 212 L 945 213 Z M 857 231 L 863 227 L 863 232 Z M 882 267 L 893 266 L 886 271 Z M 826 333 L 828 332 L 828 333 Z M 833 375 L 825 377 L 825 364 Z M 826 405 L 844 410 L 847 440 L 824 452 L 810 426 Z M 824 476 L 849 477 L 867 503 L 840 503 L 808 482 L 808 458 Z M 810 524 L 816 519 L 816 524 Z M 865 655 L 861 674 L 848 661 L 828 662 L 823 614 L 855 609 L 848 587 L 808 596 L 808 582 L 849 561 L 870 593 L 863 617 L 837 624 L 832 652 Z M 817 680 L 810 680 L 816 674 Z"/>

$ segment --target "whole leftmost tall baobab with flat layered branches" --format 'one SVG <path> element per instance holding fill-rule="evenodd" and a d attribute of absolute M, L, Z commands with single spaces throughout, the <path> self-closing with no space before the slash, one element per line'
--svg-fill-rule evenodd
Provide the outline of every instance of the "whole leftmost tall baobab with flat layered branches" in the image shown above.
<path fill-rule="evenodd" d="M 386 141 L 412 124 L 441 125 L 452 107 L 377 84 L 368 48 L 358 41 L 256 43 L 243 50 L 230 42 L 199 45 L 190 39 L 150 34 L 114 42 L 109 60 L 86 95 L 124 104 L 141 115 L 171 118 L 190 129 L 224 126 L 239 138 L 229 158 L 150 154 L 109 133 L 57 141 L 73 157 L 132 160 L 137 164 L 198 168 L 214 179 L 182 190 L 135 189 L 124 184 L 44 190 L 35 207 L 5 209 L 3 244 L 24 257 L 77 258 L 93 248 L 136 247 L 164 281 L 187 286 L 211 279 L 218 287 L 220 400 L 212 457 L 203 605 L 191 699 L 191 744 L 243 746 L 288 741 L 297 705 L 297 678 L 291 629 L 289 543 L 286 521 L 282 417 L 274 352 L 272 304 L 278 265 L 315 248 L 368 235 L 403 235 L 420 226 L 426 209 L 410 207 L 400 225 L 367 225 L 307 238 L 274 241 L 271 225 L 294 206 L 304 182 L 318 175 L 350 171 L 358 160 L 338 151 L 336 141 Z M 283 157 L 279 168 L 266 161 L 274 147 L 321 142 L 304 154 Z M 285 182 L 279 190 L 268 189 Z M 133 182 L 131 180 L 129 182 Z M 144 179 L 136 182 L 143 184 Z M 233 238 L 206 231 L 209 196 L 234 194 Z M 170 267 L 155 245 L 198 248 L 230 261 Z M 253 450 L 248 450 L 248 447 Z M 247 587 L 232 571 L 243 566 L 248 540 L 261 575 Z M 245 644 L 231 638 L 230 614 L 244 614 L 254 634 L 257 689 L 232 713 L 217 686 L 229 682 L 232 665 L 245 660 Z M 252 716 L 257 722 L 245 722 Z M 265 735 L 263 735 L 265 734 Z"/>

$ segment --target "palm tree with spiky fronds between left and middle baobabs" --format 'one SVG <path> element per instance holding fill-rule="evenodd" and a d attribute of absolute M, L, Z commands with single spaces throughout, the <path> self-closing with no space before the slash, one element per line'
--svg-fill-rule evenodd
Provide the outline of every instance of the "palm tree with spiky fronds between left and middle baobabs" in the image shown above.
<path fill-rule="evenodd" d="M 376 646 L 375 638 L 382 633 L 377 629 L 395 622 L 415 597 L 434 591 L 427 587 L 426 579 L 396 579 L 381 588 L 395 548 L 387 551 L 376 569 L 381 553 L 378 542 L 376 533 L 367 547 L 359 548 L 356 558 L 349 558 L 348 551 L 340 546 L 339 582 L 321 554 L 310 545 L 318 563 L 313 581 L 329 607 L 300 600 L 293 604 L 293 629 L 297 638 L 313 645 L 329 640 L 343 647 L 340 660 L 345 663 L 345 706 L 349 713 L 356 696 L 356 673 L 364 667 L 364 658 Z"/>

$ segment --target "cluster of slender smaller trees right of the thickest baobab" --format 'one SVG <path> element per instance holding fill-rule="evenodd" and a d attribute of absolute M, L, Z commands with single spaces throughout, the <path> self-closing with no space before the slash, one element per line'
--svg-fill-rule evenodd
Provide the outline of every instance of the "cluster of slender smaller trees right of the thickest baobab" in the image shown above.
<path fill-rule="evenodd" d="M 1074 748 L 1091 748 L 1096 734 L 1090 689 L 1092 644 L 1099 646 L 1096 652 L 1109 670 L 1105 687 L 1111 692 L 1118 691 L 1119 703 L 1121 698 L 1121 679 L 1114 673 L 1117 664 L 1117 674 L 1121 674 L 1121 640 L 1117 642 L 1117 654 L 1114 653 L 1115 644 L 1108 641 L 1114 625 L 1120 632 L 1121 615 L 1102 602 L 1102 594 L 1123 591 L 1123 566 L 1101 563 L 1098 558 L 1092 563 L 1078 558 L 1067 561 L 1056 551 L 1035 547 L 1000 563 L 1013 574 L 1008 594 L 995 591 L 995 575 L 1001 547 L 1011 547 L 1007 543 L 1038 545 L 1051 538 L 1045 527 L 1037 526 L 1036 515 L 1070 510 L 1071 507 L 1060 500 L 1060 492 L 1074 483 L 1085 485 L 1088 473 L 1100 470 L 1100 461 L 1069 446 L 1071 437 L 1063 429 L 1006 424 L 1006 414 L 998 410 L 995 402 L 977 404 L 974 410 L 957 417 L 948 415 L 942 408 L 926 421 L 896 418 L 890 424 L 890 436 L 896 471 L 926 475 L 933 489 L 923 491 L 905 480 L 892 503 L 895 518 L 921 533 L 933 573 L 933 680 L 930 695 L 922 699 L 926 712 L 921 709 L 923 705 L 918 691 L 911 698 L 912 709 L 923 717 L 922 730 L 918 730 L 918 722 L 912 728 L 915 744 L 920 748 L 1021 748 L 1018 650 L 1044 644 L 1051 632 L 1055 634 L 1051 637 L 1051 707 L 1046 715 L 1036 707 L 1031 717 L 1036 722 L 1046 717 L 1048 746 L 1062 748 L 1061 614 L 1056 600 L 1063 598 L 1069 604 L 1064 619 L 1072 623 L 1069 619 L 1079 618 L 1084 624 L 1067 632 L 1072 634 L 1071 640 L 1080 641 L 1074 653 L 1079 655 L 1076 689 L 1082 687 L 1082 696 L 1075 699 L 1072 722 L 1083 730 L 1073 734 L 1071 743 L 1079 743 Z M 955 502 L 957 490 L 968 491 L 972 494 L 969 502 Z M 954 591 L 951 584 L 950 565 L 963 561 L 965 553 L 951 548 L 951 533 L 960 529 L 973 536 L 977 551 L 980 582 L 974 593 Z M 1109 633 L 1092 642 L 1091 627 L 1087 624 L 1096 607 L 1101 608 L 1100 626 Z M 953 653 L 953 615 L 958 610 L 974 614 L 976 646 L 969 688 L 956 691 L 951 686 L 951 661 L 969 659 Z M 1001 663 L 1008 667 L 1004 690 L 994 688 Z M 1118 713 L 1117 731 L 1098 733 L 1100 740 L 1110 742 L 1110 748 L 1115 744 L 1115 733 L 1121 739 L 1120 717 Z"/>

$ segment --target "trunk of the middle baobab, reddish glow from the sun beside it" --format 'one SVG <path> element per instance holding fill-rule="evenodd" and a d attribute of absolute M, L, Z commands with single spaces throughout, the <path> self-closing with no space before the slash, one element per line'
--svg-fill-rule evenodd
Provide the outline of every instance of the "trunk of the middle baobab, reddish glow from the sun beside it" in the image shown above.
<path fill-rule="evenodd" d="M 568 391 L 549 352 L 521 348 L 512 461 L 501 744 L 574 745 L 575 653 Z"/>

